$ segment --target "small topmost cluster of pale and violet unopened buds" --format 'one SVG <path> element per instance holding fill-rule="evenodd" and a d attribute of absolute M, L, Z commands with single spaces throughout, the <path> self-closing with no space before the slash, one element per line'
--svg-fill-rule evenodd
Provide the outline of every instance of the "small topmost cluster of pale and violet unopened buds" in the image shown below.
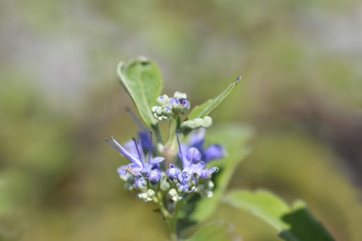
<path fill-rule="evenodd" d="M 151 111 L 154 118 L 159 121 L 167 120 L 180 113 L 184 114 L 190 109 L 190 102 L 187 100 L 186 94 L 181 92 L 174 92 L 173 97 L 163 94 L 157 98 L 157 103 L 159 105 L 153 106 Z"/>

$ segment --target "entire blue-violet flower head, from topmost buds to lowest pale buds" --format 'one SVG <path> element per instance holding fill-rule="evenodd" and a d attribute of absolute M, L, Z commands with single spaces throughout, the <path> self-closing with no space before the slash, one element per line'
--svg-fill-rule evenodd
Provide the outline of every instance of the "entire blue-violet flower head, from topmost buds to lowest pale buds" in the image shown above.
<path fill-rule="evenodd" d="M 139 126 L 138 138 L 122 145 L 113 137 L 105 139 L 130 160 L 117 169 L 125 188 L 136 191 L 138 198 L 145 202 L 156 203 L 160 210 L 165 210 L 165 218 L 176 217 L 177 205 L 186 202 L 194 193 L 206 198 L 213 196 L 212 175 L 219 168 L 206 167 L 206 164 L 225 155 L 221 145 L 206 146 L 204 143 L 205 128 L 212 125 L 210 116 L 181 121 L 181 114 L 190 109 L 186 98 L 181 92 L 175 92 L 171 98 L 163 94 L 157 98 L 159 105 L 150 110 L 158 121 L 170 119 L 170 132 L 165 143 L 158 127 L 152 127 L 157 137 L 157 145 L 154 145 L 152 132 L 145 129 L 130 110 L 128 112 Z"/>

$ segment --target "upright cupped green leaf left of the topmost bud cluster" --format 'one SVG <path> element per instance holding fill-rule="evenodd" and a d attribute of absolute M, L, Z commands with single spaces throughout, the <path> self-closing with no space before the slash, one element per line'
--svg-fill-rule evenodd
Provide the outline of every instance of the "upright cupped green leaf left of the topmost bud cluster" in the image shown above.
<path fill-rule="evenodd" d="M 151 112 L 151 107 L 156 105 L 162 90 L 157 65 L 146 59 L 121 62 L 117 67 L 117 77 L 132 98 L 143 121 L 150 127 L 157 125 L 157 119 Z"/>

